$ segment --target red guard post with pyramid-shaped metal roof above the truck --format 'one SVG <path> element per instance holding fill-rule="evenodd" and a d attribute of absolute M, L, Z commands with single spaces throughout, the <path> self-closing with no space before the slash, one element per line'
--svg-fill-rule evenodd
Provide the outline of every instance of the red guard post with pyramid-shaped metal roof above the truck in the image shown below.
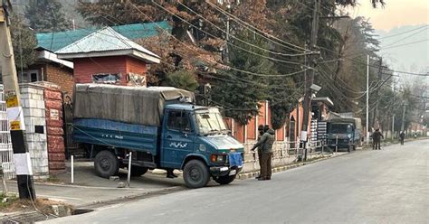
<path fill-rule="evenodd" d="M 147 65 L 160 57 L 110 27 L 91 33 L 55 51 L 73 61 L 75 83 L 110 83 L 146 86 Z"/>

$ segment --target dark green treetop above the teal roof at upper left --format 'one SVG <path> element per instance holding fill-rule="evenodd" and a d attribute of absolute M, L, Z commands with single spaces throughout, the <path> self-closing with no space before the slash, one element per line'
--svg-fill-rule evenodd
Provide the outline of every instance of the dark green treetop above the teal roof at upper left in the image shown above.
<path fill-rule="evenodd" d="M 25 7 L 25 17 L 36 32 L 64 31 L 71 26 L 56 0 L 30 1 Z"/>

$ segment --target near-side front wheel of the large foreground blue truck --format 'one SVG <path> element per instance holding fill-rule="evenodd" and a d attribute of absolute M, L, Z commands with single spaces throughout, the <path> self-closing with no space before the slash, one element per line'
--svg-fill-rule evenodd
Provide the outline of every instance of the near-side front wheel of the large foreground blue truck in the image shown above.
<path fill-rule="evenodd" d="M 183 178 L 188 188 L 201 188 L 210 181 L 210 173 L 205 163 L 199 160 L 191 160 L 185 165 Z"/>

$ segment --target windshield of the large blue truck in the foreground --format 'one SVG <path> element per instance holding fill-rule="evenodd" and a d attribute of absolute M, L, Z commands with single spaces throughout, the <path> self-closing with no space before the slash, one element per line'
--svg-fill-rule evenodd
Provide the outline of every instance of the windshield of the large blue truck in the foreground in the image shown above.
<path fill-rule="evenodd" d="M 201 135 L 223 134 L 227 131 L 224 118 L 217 109 L 197 111 L 195 117 Z"/>

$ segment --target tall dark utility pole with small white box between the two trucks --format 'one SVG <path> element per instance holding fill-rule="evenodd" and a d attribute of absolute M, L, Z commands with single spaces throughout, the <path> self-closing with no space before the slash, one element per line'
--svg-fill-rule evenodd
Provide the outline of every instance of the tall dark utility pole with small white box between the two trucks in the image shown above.
<path fill-rule="evenodd" d="M 317 50 L 318 42 L 318 31 L 319 31 L 319 12 L 320 12 L 320 0 L 314 1 L 314 10 L 313 10 L 313 21 L 311 23 L 311 38 L 310 38 L 310 51 L 314 52 Z M 316 68 L 316 57 L 314 53 L 310 55 L 310 65 L 312 68 Z M 315 70 L 311 70 L 310 77 L 307 73 L 306 82 L 305 82 L 305 94 L 304 94 L 304 113 L 303 113 L 303 122 L 302 122 L 302 131 L 300 140 L 303 142 L 304 146 L 304 161 L 307 160 L 307 133 L 309 126 L 309 117 L 310 117 L 310 104 L 311 104 L 311 85 L 313 84 Z"/>

